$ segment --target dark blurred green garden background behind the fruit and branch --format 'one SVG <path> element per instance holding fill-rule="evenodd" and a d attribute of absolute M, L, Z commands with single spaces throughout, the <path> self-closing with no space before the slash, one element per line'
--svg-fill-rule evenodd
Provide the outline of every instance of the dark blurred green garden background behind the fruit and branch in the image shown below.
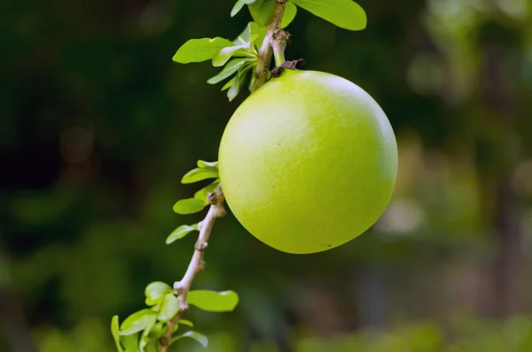
<path fill-rule="evenodd" d="M 230 215 L 194 286 L 239 292 L 193 309 L 213 352 L 532 351 L 532 1 L 360 0 L 348 32 L 300 9 L 287 59 L 339 74 L 387 112 L 400 175 L 348 245 L 283 254 Z M 233 39 L 232 0 L 19 0 L 0 5 L 0 350 L 113 351 L 110 319 L 181 278 L 193 236 L 172 212 L 215 160 L 244 98 L 171 58 Z M 179 341 L 176 351 L 200 351 Z"/>

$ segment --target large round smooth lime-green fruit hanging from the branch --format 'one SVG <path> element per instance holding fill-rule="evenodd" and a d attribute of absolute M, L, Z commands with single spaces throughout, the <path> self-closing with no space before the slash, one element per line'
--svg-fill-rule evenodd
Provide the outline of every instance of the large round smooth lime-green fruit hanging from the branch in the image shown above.
<path fill-rule="evenodd" d="M 394 131 L 377 102 L 317 71 L 285 70 L 246 98 L 218 157 L 232 213 L 291 254 L 325 251 L 370 228 L 397 174 Z"/>

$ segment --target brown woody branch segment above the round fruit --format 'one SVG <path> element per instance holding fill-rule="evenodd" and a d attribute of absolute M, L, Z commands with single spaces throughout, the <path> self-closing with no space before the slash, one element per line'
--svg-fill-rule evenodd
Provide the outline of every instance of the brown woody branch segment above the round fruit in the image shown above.
<path fill-rule="evenodd" d="M 278 4 L 275 8 L 275 12 L 273 12 L 270 22 L 266 25 L 267 32 L 258 53 L 259 64 L 254 72 L 255 81 L 252 91 L 258 90 L 268 79 L 268 70 L 270 68 L 274 49 L 272 44 L 275 42 L 275 37 L 278 35 L 279 31 L 282 31 L 281 21 L 283 20 L 283 14 L 285 13 L 287 0 L 277 0 L 277 2 Z"/>

